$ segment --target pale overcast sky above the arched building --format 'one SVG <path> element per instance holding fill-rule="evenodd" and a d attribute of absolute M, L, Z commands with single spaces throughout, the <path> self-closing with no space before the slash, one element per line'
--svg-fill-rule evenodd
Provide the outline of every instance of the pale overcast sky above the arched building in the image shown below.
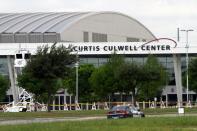
<path fill-rule="evenodd" d="M 115 11 L 145 25 L 156 37 L 177 39 L 177 28 L 193 29 L 197 45 L 197 0 L 2 0 L 0 12 Z M 184 43 L 186 33 L 180 32 Z"/>

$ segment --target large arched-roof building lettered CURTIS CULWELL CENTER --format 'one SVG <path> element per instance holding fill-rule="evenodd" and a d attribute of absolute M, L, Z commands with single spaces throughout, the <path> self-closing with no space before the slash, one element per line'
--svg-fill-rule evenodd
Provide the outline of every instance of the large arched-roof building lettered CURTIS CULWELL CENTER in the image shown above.
<path fill-rule="evenodd" d="M 126 61 L 138 63 L 144 63 L 148 54 L 155 54 L 170 77 L 162 99 L 177 101 L 178 93 L 182 94 L 178 95 L 178 100 L 186 101 L 186 90 L 181 84 L 181 72 L 186 70 L 186 49 L 168 39 L 159 40 L 164 44 L 156 46 L 153 45 L 155 39 L 139 21 L 117 12 L 1 13 L 0 73 L 9 77 L 11 82 L 7 101 L 16 99 L 18 94 L 14 56 L 19 45 L 33 54 L 38 45 L 54 42 L 75 43 L 79 64 L 88 63 L 96 67 L 105 64 L 114 49 L 118 50 L 118 54 L 124 54 Z M 139 46 L 150 41 L 152 45 Z M 197 56 L 194 48 L 188 53 L 189 57 Z M 55 103 L 74 102 L 74 98 L 63 90 L 56 94 Z M 195 101 L 195 93 L 189 91 L 189 98 Z"/>

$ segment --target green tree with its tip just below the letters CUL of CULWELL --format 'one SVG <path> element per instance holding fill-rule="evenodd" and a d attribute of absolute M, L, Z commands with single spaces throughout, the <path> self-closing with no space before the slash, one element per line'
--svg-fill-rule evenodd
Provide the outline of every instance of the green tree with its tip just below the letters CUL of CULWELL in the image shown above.
<path fill-rule="evenodd" d="M 105 65 L 98 67 L 92 73 L 89 81 L 100 100 L 106 101 L 108 96 L 118 91 L 120 80 L 116 74 L 123 63 L 124 59 L 122 56 L 112 54 Z"/>

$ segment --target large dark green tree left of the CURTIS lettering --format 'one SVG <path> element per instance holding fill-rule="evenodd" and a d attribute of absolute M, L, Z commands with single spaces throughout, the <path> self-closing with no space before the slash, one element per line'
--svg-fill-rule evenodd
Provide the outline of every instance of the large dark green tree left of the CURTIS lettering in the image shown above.
<path fill-rule="evenodd" d="M 76 62 L 70 52 L 71 47 L 63 45 L 39 47 L 18 77 L 19 86 L 33 93 L 35 98 L 47 101 L 49 112 L 53 96 L 63 87 L 62 79 L 68 76 L 70 65 Z"/>

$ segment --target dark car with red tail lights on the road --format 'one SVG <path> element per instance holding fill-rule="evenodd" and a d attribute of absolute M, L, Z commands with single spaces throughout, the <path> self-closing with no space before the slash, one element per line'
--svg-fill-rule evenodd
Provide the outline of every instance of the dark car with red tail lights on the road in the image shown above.
<path fill-rule="evenodd" d="M 117 118 L 128 118 L 128 117 L 145 117 L 144 113 L 141 112 L 134 106 L 114 106 L 108 113 L 108 119 Z"/>

